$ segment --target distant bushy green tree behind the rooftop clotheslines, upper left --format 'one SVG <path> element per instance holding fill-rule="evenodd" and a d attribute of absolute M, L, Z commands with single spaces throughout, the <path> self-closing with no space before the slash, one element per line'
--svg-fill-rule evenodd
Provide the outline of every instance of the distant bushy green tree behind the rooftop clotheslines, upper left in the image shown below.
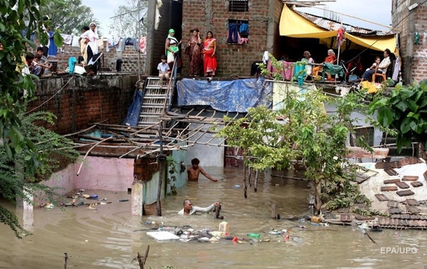
<path fill-rule="evenodd" d="M 102 25 L 94 18 L 92 8 L 82 4 L 81 0 L 50 0 L 40 8 L 41 15 L 48 15 L 53 26 L 61 29 L 64 34 L 80 35 L 83 26 L 95 22 L 98 34 Z"/>

